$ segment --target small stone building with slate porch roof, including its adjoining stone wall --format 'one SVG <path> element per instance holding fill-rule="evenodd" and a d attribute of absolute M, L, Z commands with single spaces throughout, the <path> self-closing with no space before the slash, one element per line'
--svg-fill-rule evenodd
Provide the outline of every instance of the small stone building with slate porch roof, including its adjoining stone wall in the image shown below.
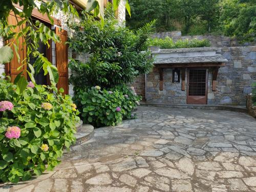
<path fill-rule="evenodd" d="M 223 36 L 207 36 L 207 39 L 215 47 L 150 47 L 154 68 L 133 83 L 143 100 L 154 104 L 245 106 L 251 84 L 256 82 L 256 46 L 239 45 L 238 41 Z"/>

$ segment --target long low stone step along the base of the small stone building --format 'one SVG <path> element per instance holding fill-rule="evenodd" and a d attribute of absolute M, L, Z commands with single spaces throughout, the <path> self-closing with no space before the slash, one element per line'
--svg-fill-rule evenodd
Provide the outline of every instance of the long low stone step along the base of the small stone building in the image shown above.
<path fill-rule="evenodd" d="M 179 108 L 179 109 L 226 110 L 226 111 L 248 113 L 245 106 L 236 106 L 236 105 L 172 104 L 172 103 L 140 102 L 140 106 L 160 106 L 164 108 Z"/>

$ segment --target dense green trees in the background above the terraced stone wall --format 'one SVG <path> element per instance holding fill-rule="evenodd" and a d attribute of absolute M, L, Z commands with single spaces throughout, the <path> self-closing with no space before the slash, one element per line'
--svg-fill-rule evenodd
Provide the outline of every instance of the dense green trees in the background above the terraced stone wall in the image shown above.
<path fill-rule="evenodd" d="M 132 29 L 157 19 L 157 31 L 218 32 L 242 41 L 255 38 L 255 0 L 131 0 L 130 4 L 132 17 L 126 20 Z"/>

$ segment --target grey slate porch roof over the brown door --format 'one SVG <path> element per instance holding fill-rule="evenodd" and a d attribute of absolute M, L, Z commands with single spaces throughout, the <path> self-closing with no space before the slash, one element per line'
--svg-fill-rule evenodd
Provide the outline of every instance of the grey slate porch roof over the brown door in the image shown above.
<path fill-rule="evenodd" d="M 180 56 L 180 57 L 166 57 L 155 58 L 154 64 L 169 64 L 172 63 L 222 63 L 227 62 L 227 59 L 220 54 L 212 56 Z"/>

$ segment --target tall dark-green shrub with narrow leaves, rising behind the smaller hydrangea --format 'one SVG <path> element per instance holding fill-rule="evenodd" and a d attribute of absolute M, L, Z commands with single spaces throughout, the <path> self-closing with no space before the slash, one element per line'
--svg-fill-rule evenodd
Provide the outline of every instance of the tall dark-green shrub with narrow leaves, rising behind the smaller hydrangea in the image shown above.
<path fill-rule="evenodd" d="M 132 31 L 118 25 L 111 7 L 105 12 L 105 23 L 88 13 L 82 15 L 80 23 L 72 23 L 74 34 L 69 46 L 76 53 L 89 53 L 87 62 L 71 60 L 69 68 L 74 72 L 70 81 L 75 87 L 111 88 L 129 83 L 139 74 L 148 73 L 153 60 L 142 46 L 150 36 L 153 23 Z"/>

